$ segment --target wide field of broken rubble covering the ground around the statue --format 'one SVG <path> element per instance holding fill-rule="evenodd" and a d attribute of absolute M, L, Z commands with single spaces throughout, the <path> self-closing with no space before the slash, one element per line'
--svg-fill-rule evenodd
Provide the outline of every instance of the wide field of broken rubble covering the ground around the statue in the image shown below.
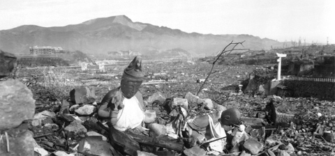
<path fill-rule="evenodd" d="M 108 129 L 106 120 L 96 113 L 103 96 L 119 86 L 125 66 L 113 65 L 106 72 L 66 68 L 22 70 L 17 79 L 32 91 L 36 109 L 34 119 L 17 130 L 28 127 L 34 138 L 35 155 L 334 155 L 334 102 L 239 91 L 239 84 L 255 71 L 276 75 L 276 70 L 269 70 L 268 66 L 215 65 L 215 72 L 196 96 L 211 64 L 143 63 L 145 79 L 140 92 L 146 113 L 154 114 L 151 123 L 144 127 L 165 125 L 162 130 L 166 131 L 147 134 L 128 130 L 119 134 Z M 36 77 L 29 77 L 31 73 Z M 50 84 L 58 86 L 50 90 L 46 87 Z M 174 104 L 184 99 L 187 104 Z M 168 100 L 172 101 L 170 109 L 166 107 Z M 274 107 L 269 106 L 270 101 Z M 231 143 L 236 127 L 225 127 L 227 143 L 223 151 L 183 137 L 178 131 L 187 120 L 231 107 L 241 111 L 241 125 L 245 125 L 243 132 L 248 137 L 237 148 Z M 269 109 L 276 112 L 276 124 L 266 119 Z M 179 123 L 179 127 L 174 123 Z M 133 140 L 140 146 L 134 145 Z"/>

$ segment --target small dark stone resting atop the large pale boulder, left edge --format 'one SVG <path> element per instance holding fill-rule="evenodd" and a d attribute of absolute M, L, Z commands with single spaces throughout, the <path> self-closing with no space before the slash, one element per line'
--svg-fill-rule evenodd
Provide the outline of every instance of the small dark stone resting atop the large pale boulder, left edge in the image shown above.
<path fill-rule="evenodd" d="M 16 56 L 0 49 L 0 79 L 7 77 L 16 67 Z"/>

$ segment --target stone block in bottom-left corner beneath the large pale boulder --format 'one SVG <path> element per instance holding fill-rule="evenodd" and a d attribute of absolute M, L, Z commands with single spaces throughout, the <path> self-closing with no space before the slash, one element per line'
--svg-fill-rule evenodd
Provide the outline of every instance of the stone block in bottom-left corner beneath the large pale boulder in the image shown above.
<path fill-rule="evenodd" d="M 17 136 L 12 137 L 8 135 L 9 151 L 7 152 L 6 137 L 2 136 L 2 143 L 0 143 L 1 156 L 34 156 L 34 143 L 32 132 L 26 131 Z"/>

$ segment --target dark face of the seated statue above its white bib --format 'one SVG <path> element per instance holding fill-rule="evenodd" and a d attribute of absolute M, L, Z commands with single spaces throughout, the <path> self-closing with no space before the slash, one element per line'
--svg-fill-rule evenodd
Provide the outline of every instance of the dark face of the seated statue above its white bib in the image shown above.
<path fill-rule="evenodd" d="M 142 81 L 132 81 L 127 79 L 121 80 L 121 91 L 127 99 L 132 98 L 138 91 Z"/>

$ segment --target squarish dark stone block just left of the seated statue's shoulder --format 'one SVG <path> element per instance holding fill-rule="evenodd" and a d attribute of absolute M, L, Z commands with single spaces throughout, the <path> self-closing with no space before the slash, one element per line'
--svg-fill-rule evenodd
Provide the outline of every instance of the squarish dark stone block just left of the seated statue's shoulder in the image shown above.
<path fill-rule="evenodd" d="M 70 91 L 70 100 L 75 104 L 88 104 L 96 101 L 96 93 L 94 89 L 88 87 L 74 88 Z"/>

